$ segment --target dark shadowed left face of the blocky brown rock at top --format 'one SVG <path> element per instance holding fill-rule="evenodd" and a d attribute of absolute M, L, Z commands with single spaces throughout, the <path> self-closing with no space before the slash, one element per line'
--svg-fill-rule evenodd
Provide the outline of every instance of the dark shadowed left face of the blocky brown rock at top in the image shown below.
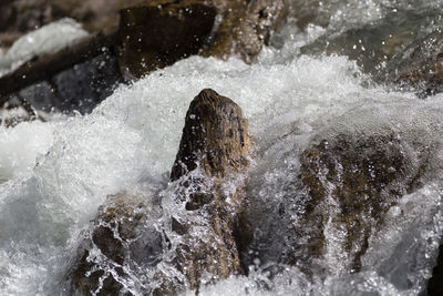
<path fill-rule="evenodd" d="M 122 10 L 121 64 L 132 75 L 142 76 L 197 54 L 208 41 L 215 17 L 215 8 L 198 3 L 150 3 Z"/>

